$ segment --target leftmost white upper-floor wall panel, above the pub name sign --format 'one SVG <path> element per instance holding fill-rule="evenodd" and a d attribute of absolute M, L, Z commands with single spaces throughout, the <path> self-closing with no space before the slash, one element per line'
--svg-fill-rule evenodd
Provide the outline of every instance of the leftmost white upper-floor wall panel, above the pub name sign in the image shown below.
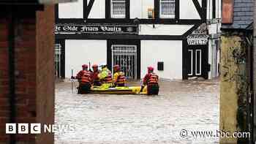
<path fill-rule="evenodd" d="M 83 0 L 59 4 L 59 18 L 83 18 Z"/>

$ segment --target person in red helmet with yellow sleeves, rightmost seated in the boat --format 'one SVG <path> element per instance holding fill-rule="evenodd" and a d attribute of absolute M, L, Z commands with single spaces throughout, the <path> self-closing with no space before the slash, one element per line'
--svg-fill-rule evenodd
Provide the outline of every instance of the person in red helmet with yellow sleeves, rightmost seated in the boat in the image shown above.
<path fill-rule="evenodd" d="M 124 76 L 124 72 L 121 72 L 120 66 L 119 65 L 115 65 L 113 67 L 113 70 L 114 70 L 113 86 L 114 87 L 125 86 L 126 78 Z"/>

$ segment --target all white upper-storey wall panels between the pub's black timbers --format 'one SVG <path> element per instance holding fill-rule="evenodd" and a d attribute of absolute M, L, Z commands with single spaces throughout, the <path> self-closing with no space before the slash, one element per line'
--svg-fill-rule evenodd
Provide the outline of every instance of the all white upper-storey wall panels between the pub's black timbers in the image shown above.
<path fill-rule="evenodd" d="M 89 4 L 89 0 L 87 3 Z M 201 4 L 201 0 L 199 3 Z M 83 0 L 59 4 L 59 18 L 83 18 L 83 5 Z M 181 19 L 200 20 L 192 0 L 180 1 L 180 7 Z M 154 8 L 154 0 L 130 0 L 130 18 L 148 18 L 148 8 Z M 105 0 L 94 1 L 89 18 L 105 18 Z"/>

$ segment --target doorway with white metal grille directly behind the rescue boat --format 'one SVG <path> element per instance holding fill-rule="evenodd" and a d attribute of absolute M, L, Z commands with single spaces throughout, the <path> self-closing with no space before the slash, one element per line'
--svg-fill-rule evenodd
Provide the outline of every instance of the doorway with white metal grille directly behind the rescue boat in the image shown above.
<path fill-rule="evenodd" d="M 111 45 L 111 53 L 112 72 L 113 66 L 118 64 L 127 79 L 137 79 L 137 45 Z"/>

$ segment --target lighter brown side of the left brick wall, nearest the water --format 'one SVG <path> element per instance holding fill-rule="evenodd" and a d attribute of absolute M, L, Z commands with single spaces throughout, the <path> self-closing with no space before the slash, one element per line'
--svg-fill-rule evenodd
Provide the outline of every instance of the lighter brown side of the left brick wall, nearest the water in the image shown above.
<path fill-rule="evenodd" d="M 37 12 L 37 122 L 54 123 L 54 6 Z M 40 134 L 37 143 L 53 143 L 53 134 Z"/>

